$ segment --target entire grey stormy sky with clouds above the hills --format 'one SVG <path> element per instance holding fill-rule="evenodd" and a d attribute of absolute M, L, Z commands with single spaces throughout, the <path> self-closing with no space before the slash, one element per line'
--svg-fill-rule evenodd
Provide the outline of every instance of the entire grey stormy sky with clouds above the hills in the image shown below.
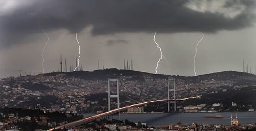
<path fill-rule="evenodd" d="M 0 78 L 124 69 L 194 76 L 256 69 L 254 0 L 1 0 Z M 49 40 L 47 38 L 49 36 Z M 201 42 L 198 41 L 202 38 Z M 196 74 L 194 56 L 196 53 Z M 42 59 L 44 57 L 44 61 Z M 43 67 L 42 67 L 43 65 Z"/>

